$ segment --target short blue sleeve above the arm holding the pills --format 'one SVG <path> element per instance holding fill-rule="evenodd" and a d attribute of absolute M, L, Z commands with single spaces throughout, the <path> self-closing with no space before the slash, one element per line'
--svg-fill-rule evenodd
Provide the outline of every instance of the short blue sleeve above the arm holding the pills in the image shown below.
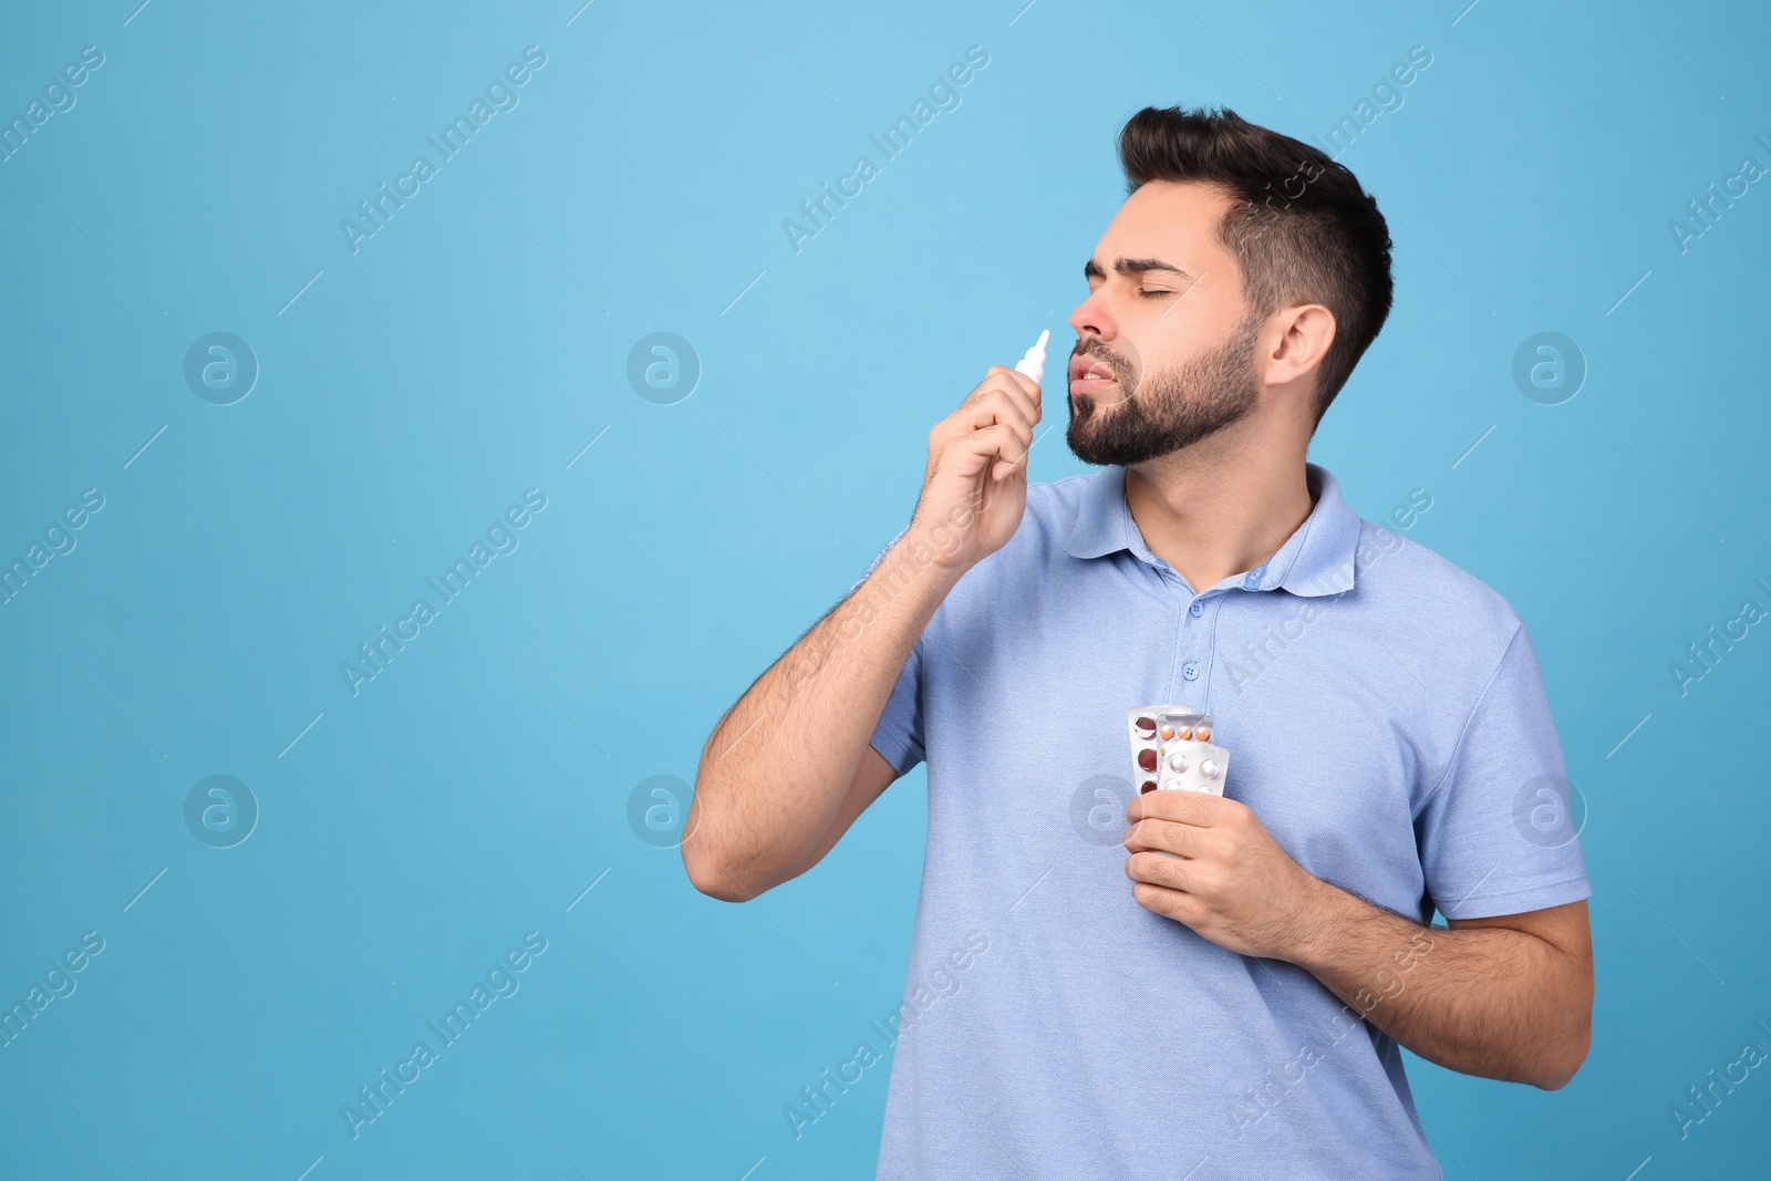
<path fill-rule="evenodd" d="M 1447 919 L 1484 919 L 1592 896 L 1583 822 L 1537 652 L 1520 623 L 1450 767 L 1415 813 L 1429 901 Z"/>

